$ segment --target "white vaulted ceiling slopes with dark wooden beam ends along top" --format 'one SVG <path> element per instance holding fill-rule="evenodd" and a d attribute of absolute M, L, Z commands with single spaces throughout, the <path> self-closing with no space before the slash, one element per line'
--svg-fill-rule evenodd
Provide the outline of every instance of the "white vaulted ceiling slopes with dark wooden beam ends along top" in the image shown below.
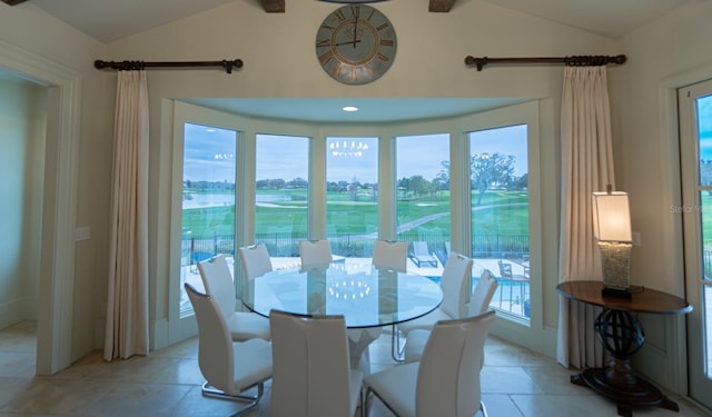
<path fill-rule="evenodd" d="M 290 0 L 1 0 L 34 6 L 102 42 L 159 27 L 234 1 L 285 12 Z M 425 7 L 425 2 L 413 2 Z M 428 0 L 431 12 L 458 12 L 458 1 Z M 623 37 L 689 2 L 710 0 L 482 0 L 609 38 Z"/>

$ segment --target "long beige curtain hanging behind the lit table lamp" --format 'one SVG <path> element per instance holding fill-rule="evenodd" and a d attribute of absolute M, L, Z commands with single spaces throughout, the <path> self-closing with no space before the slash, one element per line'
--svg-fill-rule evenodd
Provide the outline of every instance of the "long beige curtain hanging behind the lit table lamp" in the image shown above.
<path fill-rule="evenodd" d="M 561 110 L 562 224 L 558 281 L 601 280 L 591 192 L 615 185 L 605 67 L 566 67 Z M 560 296 L 556 357 L 565 367 L 602 366 L 599 308 Z"/>

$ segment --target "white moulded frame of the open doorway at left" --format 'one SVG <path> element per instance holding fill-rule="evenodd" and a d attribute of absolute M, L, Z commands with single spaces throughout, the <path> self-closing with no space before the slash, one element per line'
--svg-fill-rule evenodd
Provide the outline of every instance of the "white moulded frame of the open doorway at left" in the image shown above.
<path fill-rule="evenodd" d="M 37 374 L 71 365 L 81 76 L 0 41 L 0 67 L 48 88 Z"/>

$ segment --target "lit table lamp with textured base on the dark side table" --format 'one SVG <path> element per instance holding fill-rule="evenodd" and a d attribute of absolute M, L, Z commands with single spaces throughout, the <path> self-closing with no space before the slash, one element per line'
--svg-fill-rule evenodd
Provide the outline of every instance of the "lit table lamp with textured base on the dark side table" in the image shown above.
<path fill-rule="evenodd" d="M 593 235 L 601 251 L 604 297 L 631 298 L 629 290 L 631 267 L 631 215 L 627 193 L 593 192 Z"/>

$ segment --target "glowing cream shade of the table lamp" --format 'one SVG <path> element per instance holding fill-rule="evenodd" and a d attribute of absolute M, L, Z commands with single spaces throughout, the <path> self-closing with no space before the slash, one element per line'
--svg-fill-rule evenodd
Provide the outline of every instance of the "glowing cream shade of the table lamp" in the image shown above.
<path fill-rule="evenodd" d="M 593 235 L 599 241 L 632 241 L 627 193 L 593 192 Z"/>

